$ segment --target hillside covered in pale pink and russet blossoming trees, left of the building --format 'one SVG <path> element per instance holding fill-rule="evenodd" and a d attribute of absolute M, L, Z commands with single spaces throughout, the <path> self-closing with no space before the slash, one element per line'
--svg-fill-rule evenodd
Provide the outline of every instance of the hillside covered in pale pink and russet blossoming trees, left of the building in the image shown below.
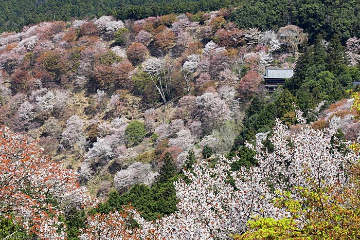
<path fill-rule="evenodd" d="M 146 149 L 136 145 L 149 134 L 152 141 L 143 145 L 161 149 L 166 142 L 152 159 L 155 167 L 170 151 L 181 169 L 196 143 L 223 154 L 238 133 L 241 102 L 262 90 L 264 67 L 290 67 L 288 45 L 303 42 L 283 33 L 306 37 L 293 25 L 260 31 L 227 19 L 226 11 L 124 22 L 101 16 L 2 33 L 0 122 L 31 132 L 46 153 L 66 156 L 70 168 L 80 167 L 82 183 L 114 163 L 120 167 L 112 177 L 133 179 L 116 186 L 151 184 L 153 178 L 130 176 L 139 166 L 125 171 Z M 171 114 L 157 108 L 168 102 Z M 129 119 L 145 124 L 136 141 L 125 134 Z"/>

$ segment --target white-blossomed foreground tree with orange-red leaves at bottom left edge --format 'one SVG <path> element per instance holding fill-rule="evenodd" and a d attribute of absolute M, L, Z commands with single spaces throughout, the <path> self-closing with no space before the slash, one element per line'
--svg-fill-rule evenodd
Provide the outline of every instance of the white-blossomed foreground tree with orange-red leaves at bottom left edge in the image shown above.
<path fill-rule="evenodd" d="M 41 154 L 26 138 L 0 126 L 0 217 L 13 218 L 39 239 L 65 239 L 59 216 L 93 200 L 73 171 Z"/>

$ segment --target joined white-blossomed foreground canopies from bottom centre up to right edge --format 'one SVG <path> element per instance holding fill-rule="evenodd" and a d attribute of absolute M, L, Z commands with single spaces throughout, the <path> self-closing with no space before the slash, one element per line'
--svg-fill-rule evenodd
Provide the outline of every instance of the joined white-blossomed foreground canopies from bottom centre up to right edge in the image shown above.
<path fill-rule="evenodd" d="M 304 123 L 302 113 L 296 113 Z M 230 164 L 239 158 L 221 157 L 214 165 L 205 160 L 184 170 L 187 178 L 174 182 L 178 211 L 156 221 L 146 221 L 133 214 L 141 227 L 142 239 L 230 239 L 244 233 L 248 221 L 272 218 L 286 219 L 291 212 L 278 208 L 274 200 L 287 194 L 298 199 L 299 187 L 348 187 L 350 168 L 359 156 L 353 151 L 342 151 L 331 143 L 334 130 L 314 130 L 303 126 L 292 132 L 279 120 L 270 141 L 269 151 L 262 143 L 249 149 L 256 150 L 258 166 L 242 167 L 231 172 Z M 242 156 L 240 156 L 241 158 Z M 336 193 L 336 189 L 332 191 Z M 289 195 L 290 194 L 290 195 Z M 133 210 L 132 210 L 133 211 Z M 134 211 L 133 211 L 134 213 Z"/>

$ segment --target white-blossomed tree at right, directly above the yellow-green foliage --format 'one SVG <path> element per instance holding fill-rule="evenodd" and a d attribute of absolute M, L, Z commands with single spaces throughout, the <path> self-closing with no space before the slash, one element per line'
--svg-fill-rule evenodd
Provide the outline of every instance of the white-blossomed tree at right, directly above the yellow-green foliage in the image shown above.
<path fill-rule="evenodd" d="M 348 171 L 358 156 L 352 151 L 344 153 L 332 146 L 331 136 L 336 130 L 314 130 L 305 126 L 292 135 L 278 121 L 270 139 L 274 151 L 264 150 L 262 144 L 256 148 L 260 171 L 276 190 L 293 191 L 295 187 L 307 187 L 309 184 L 319 188 L 331 183 L 345 186 Z"/>

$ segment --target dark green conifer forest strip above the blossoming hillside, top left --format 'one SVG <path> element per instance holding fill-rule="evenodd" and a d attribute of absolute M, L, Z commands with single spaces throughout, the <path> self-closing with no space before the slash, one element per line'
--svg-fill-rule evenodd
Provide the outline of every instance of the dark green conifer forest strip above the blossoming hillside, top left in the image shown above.
<path fill-rule="evenodd" d="M 69 21 L 72 17 L 113 15 L 139 20 L 169 13 L 212 11 L 234 0 L 10 0 L 0 3 L 0 31 L 18 31 L 42 21 Z"/>

